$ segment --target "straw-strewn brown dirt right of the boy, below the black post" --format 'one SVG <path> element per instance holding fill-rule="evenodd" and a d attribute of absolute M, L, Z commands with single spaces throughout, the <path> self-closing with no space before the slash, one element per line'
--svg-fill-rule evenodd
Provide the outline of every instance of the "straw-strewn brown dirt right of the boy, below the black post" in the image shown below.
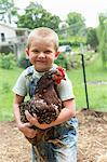
<path fill-rule="evenodd" d="M 78 119 L 78 162 L 97 162 L 107 152 L 107 113 L 82 110 Z"/>

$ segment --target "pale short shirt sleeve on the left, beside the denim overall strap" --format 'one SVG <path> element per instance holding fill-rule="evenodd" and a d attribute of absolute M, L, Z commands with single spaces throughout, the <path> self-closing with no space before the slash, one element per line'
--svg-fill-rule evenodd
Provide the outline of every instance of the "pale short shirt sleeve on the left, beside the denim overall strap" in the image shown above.
<path fill-rule="evenodd" d="M 25 71 L 23 71 L 22 75 L 18 77 L 12 91 L 17 95 L 26 96 L 27 87 L 26 87 Z"/>

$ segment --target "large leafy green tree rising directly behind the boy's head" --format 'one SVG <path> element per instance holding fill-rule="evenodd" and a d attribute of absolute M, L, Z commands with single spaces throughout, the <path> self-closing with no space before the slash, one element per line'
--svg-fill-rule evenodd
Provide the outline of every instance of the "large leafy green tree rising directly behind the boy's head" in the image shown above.
<path fill-rule="evenodd" d="M 44 10 L 41 4 L 30 2 L 25 9 L 25 13 L 18 16 L 17 26 L 34 29 L 36 27 L 50 27 L 54 30 L 58 29 L 61 19 L 58 16 L 52 15 Z"/>

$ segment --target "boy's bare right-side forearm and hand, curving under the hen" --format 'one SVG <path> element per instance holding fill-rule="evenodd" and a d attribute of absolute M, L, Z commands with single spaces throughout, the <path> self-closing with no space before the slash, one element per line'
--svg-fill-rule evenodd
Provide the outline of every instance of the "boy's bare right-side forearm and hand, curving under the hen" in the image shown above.
<path fill-rule="evenodd" d="M 40 124 L 36 118 L 34 118 L 28 111 L 26 111 L 26 117 L 28 121 L 36 125 L 37 127 L 41 130 L 49 129 L 51 126 L 58 125 L 61 123 L 64 123 L 65 121 L 69 120 L 71 117 L 76 116 L 76 103 L 75 99 L 68 99 L 64 102 L 64 107 L 57 117 L 57 119 L 50 124 Z"/>

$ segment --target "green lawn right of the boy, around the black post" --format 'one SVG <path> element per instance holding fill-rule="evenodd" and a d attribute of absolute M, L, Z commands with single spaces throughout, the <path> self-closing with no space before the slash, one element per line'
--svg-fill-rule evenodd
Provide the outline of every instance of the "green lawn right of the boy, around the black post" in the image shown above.
<path fill-rule="evenodd" d="M 82 68 L 68 71 L 68 76 L 72 81 L 77 108 L 86 108 Z M 103 68 L 101 57 L 85 66 L 85 76 L 90 109 L 107 111 L 107 84 L 89 84 L 91 81 L 107 82 L 107 69 Z"/>

